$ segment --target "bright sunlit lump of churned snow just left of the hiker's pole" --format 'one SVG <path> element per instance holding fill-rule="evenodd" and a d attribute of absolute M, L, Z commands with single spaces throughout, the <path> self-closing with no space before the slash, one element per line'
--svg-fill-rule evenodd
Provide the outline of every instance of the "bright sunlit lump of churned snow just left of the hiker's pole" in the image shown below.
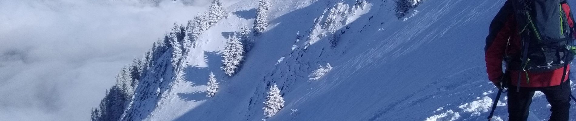
<path fill-rule="evenodd" d="M 482 97 L 480 100 L 458 106 L 458 108 L 463 109 L 464 112 L 472 112 L 471 116 L 478 116 L 482 112 L 488 112 L 490 107 L 492 107 L 492 99 L 488 96 Z"/>

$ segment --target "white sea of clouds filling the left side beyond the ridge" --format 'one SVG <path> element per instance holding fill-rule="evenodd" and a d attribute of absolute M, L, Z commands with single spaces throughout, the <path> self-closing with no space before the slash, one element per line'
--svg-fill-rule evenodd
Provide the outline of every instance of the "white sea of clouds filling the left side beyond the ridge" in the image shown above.
<path fill-rule="evenodd" d="M 123 65 L 209 3 L 0 1 L 0 119 L 89 120 Z"/>

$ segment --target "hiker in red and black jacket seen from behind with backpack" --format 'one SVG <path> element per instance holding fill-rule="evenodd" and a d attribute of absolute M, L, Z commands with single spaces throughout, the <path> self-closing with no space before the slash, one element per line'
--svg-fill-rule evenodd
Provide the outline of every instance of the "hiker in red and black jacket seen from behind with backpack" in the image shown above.
<path fill-rule="evenodd" d="M 488 79 L 509 89 L 509 120 L 528 119 L 535 91 L 550 103 L 550 120 L 569 120 L 574 23 L 566 0 L 508 0 L 498 11 L 484 52 Z"/>

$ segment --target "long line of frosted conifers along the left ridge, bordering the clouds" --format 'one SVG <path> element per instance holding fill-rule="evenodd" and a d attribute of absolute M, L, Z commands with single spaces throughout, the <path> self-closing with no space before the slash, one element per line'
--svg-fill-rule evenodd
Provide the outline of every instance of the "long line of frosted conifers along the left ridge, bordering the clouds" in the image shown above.
<path fill-rule="evenodd" d="M 116 77 L 116 84 L 106 91 L 100 106 L 92 109 L 91 120 L 122 119 L 124 111 L 132 100 L 139 80 L 145 77 L 150 69 L 154 67 L 154 62 L 165 54 L 169 55 L 171 67 L 176 73 L 174 79 L 182 80 L 184 72 L 181 67 L 184 63 L 185 55 L 192 48 L 194 41 L 200 38 L 200 34 L 228 15 L 222 0 L 213 0 L 211 3 L 209 12 L 196 15 L 194 19 L 188 21 L 186 26 L 175 23 L 170 32 L 164 34 L 164 38 L 158 38 L 158 41 L 154 42 L 152 49 L 147 51 L 141 59 L 135 59 L 131 65 L 126 65 L 122 68 Z M 217 88 L 218 85 L 215 83 L 215 89 Z"/>

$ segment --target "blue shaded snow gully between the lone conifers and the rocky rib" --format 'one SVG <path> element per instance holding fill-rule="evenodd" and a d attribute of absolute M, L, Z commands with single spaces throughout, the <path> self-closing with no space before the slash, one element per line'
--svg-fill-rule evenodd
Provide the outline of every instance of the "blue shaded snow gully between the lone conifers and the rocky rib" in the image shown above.
<path fill-rule="evenodd" d="M 287 8 L 290 8 L 289 5 L 297 5 L 305 3 L 305 1 L 283 1 L 286 4 L 282 4 L 282 2 L 278 2 L 278 6 L 286 5 Z M 328 5 L 327 5 L 328 3 Z M 343 3 L 347 5 L 354 5 L 354 1 L 344 1 Z M 314 26 L 314 18 L 320 17 L 324 13 L 324 8 L 329 8 L 334 6 L 336 3 L 331 3 L 328 1 L 316 1 L 311 3 L 308 6 L 302 7 L 297 10 L 290 11 L 289 13 L 280 15 L 275 17 L 271 20 L 271 28 L 267 30 L 263 36 L 255 38 L 257 41 L 255 48 L 252 49 L 250 53 L 248 53 L 247 60 L 241 69 L 241 72 L 238 73 L 236 76 L 228 79 L 223 78 L 227 81 L 228 84 L 222 85 L 219 93 L 209 99 L 209 102 L 200 104 L 199 106 L 191 109 L 190 111 L 185 112 L 179 118 L 175 120 L 260 120 L 263 119 L 262 115 L 262 102 L 263 102 L 263 94 L 266 93 L 266 89 L 271 82 L 276 82 L 282 84 L 284 80 L 280 77 L 287 77 L 282 75 L 274 75 L 275 70 L 278 68 L 285 68 L 291 65 L 281 64 L 276 66 L 278 58 L 283 56 L 288 56 L 290 54 L 291 48 L 294 45 L 294 41 L 296 39 L 296 33 L 301 32 L 301 34 L 308 34 L 310 28 Z M 247 8 L 251 10 L 252 8 Z M 244 11 L 244 10 L 240 10 Z M 234 13 L 234 12 L 233 12 Z M 365 17 L 367 18 L 367 17 Z M 232 18 L 234 19 L 234 18 Z M 358 28 L 359 29 L 359 28 Z M 226 32 L 226 31 L 225 31 Z M 329 35 L 327 35 L 329 36 Z M 302 37 L 300 42 L 297 42 L 296 45 L 305 45 L 306 37 Z M 328 40 L 321 40 L 321 41 L 328 41 Z M 316 65 L 315 61 L 318 61 L 316 58 L 321 55 L 319 48 L 325 47 L 327 42 L 324 43 L 317 43 L 318 45 L 312 45 L 309 48 L 314 48 L 310 50 L 314 50 L 314 52 L 309 52 L 308 56 L 303 58 L 313 58 L 313 59 L 306 59 L 312 60 L 307 62 L 305 65 Z M 288 46 L 287 46 L 288 45 Z M 305 51 L 304 46 L 300 46 L 300 51 Z M 296 50 L 295 50 L 296 51 Z M 303 54 L 303 53 L 302 53 Z M 298 56 L 302 56 L 298 55 Z M 312 56 L 313 55 L 313 56 Z M 293 56 L 297 57 L 297 56 Z M 281 67 L 279 67 L 281 66 Z M 283 67 L 282 67 L 283 66 Z M 217 67 L 211 67 L 212 69 Z M 300 80 L 301 82 L 306 82 L 308 80 L 307 76 L 309 71 L 306 70 L 312 68 L 302 68 L 301 71 L 304 71 L 305 74 L 302 76 Z M 218 71 L 218 70 L 216 70 Z M 293 71 L 300 71 L 294 69 Z M 266 75 L 262 75 L 259 73 L 266 73 Z M 270 77 L 272 76 L 272 77 Z M 276 77 L 278 76 L 278 77 Z M 292 77 L 290 77 L 292 78 Z M 294 80 L 294 79 L 293 79 Z M 287 85 L 281 85 L 285 91 Z M 284 92 L 286 94 L 286 92 Z M 222 109 L 226 109 L 227 111 L 222 111 Z M 218 115 L 218 116 L 216 116 Z M 226 116 L 222 116 L 226 115 Z"/>

